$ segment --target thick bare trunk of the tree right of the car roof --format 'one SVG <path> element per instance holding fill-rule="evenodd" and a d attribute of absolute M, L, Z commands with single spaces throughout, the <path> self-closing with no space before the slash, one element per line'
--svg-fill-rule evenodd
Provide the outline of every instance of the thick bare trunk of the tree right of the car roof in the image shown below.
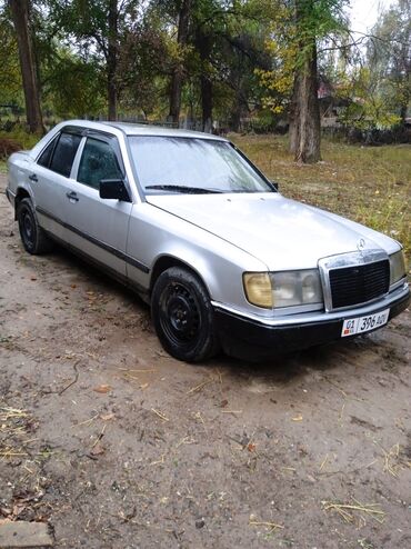
<path fill-rule="evenodd" d="M 302 30 L 301 12 L 297 4 L 297 26 Z M 302 32 L 301 32 L 302 34 Z M 290 151 L 297 162 L 314 163 L 321 160 L 321 122 L 318 100 L 318 67 L 315 38 L 300 44 L 303 60 L 294 73 L 290 106 Z"/>

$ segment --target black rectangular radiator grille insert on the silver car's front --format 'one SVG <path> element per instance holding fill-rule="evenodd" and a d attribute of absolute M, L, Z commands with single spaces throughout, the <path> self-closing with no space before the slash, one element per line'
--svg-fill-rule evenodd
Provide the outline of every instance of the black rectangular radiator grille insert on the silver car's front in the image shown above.
<path fill-rule="evenodd" d="M 389 260 L 329 271 L 332 308 L 350 307 L 379 298 L 390 288 Z"/>

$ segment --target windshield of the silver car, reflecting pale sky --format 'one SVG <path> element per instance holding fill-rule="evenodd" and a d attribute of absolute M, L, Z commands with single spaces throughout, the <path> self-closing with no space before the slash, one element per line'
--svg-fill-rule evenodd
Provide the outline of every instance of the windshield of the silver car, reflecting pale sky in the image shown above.
<path fill-rule="evenodd" d="M 273 188 L 225 141 L 130 136 L 139 181 L 148 194 L 273 192 Z"/>

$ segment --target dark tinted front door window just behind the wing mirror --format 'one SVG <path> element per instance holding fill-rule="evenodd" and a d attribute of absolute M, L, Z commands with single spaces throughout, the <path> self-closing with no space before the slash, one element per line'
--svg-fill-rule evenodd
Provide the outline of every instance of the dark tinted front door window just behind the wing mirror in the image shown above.
<path fill-rule="evenodd" d="M 77 180 L 93 189 L 99 189 L 102 179 L 123 179 L 123 173 L 114 149 L 106 141 L 88 138 Z"/>

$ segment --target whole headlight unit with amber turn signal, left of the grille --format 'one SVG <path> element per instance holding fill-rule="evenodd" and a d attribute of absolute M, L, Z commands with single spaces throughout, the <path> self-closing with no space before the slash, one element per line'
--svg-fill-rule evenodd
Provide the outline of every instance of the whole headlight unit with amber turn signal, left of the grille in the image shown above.
<path fill-rule="evenodd" d="M 317 269 L 281 272 L 244 272 L 248 301 L 264 309 L 322 303 Z"/>

